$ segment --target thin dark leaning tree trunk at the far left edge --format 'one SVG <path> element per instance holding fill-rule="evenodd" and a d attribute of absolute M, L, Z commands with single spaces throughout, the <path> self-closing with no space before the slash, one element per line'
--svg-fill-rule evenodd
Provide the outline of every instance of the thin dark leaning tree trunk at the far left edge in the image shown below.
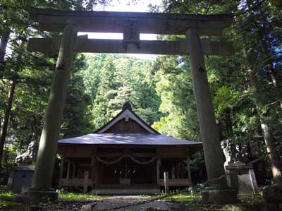
<path fill-rule="evenodd" d="M 12 102 L 13 102 L 13 95 L 15 92 L 16 88 L 16 77 L 12 78 L 11 82 L 11 89 L 8 93 L 8 104 L 6 107 L 6 111 L 4 114 L 4 119 L 1 121 L 1 131 L 0 131 L 0 167 L 1 167 L 1 162 L 2 162 L 2 157 L 3 157 L 3 152 L 4 152 L 4 145 L 5 145 L 5 140 L 7 136 L 7 129 L 8 129 L 8 120 L 11 114 L 11 107 L 12 107 Z"/>

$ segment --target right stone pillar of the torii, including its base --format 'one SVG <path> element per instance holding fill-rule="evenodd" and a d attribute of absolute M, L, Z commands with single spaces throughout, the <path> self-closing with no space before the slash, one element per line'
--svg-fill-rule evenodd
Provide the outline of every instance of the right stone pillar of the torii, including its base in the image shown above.
<path fill-rule="evenodd" d="M 219 129 L 214 116 L 202 44 L 196 28 L 187 30 L 186 40 L 204 148 L 204 161 L 210 181 L 209 187 L 202 191 L 202 200 L 204 203 L 236 203 L 237 192 L 235 189 L 227 187 L 226 177 L 224 176 Z"/>

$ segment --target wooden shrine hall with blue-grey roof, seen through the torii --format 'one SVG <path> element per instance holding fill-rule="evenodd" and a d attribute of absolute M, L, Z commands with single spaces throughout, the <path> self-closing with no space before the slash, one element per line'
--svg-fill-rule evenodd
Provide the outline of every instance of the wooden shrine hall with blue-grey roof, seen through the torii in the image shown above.
<path fill-rule="evenodd" d="M 167 171 L 169 186 L 185 188 L 190 157 L 201 149 L 200 142 L 161 135 L 125 103 L 95 133 L 59 140 L 59 187 L 87 183 L 92 193 L 159 193 Z"/>

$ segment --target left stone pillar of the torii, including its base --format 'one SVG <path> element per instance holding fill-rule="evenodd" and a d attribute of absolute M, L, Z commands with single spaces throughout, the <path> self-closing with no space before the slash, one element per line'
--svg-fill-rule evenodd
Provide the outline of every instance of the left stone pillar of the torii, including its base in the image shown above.
<path fill-rule="evenodd" d="M 40 202 L 57 200 L 58 193 L 51 188 L 56 147 L 61 128 L 63 109 L 68 90 L 68 79 L 73 64 L 73 44 L 78 30 L 75 25 L 66 25 L 63 30 L 59 56 L 56 63 L 45 121 L 39 142 L 32 187 L 22 193 L 23 198 Z"/>

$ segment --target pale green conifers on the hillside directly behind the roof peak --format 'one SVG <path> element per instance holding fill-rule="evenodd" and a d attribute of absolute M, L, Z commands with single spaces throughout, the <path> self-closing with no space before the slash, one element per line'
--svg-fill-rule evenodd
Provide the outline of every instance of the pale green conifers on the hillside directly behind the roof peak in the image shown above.
<path fill-rule="evenodd" d="M 160 99 L 152 82 L 151 61 L 95 54 L 87 56 L 87 68 L 82 78 L 85 86 L 88 85 L 85 93 L 92 96 L 93 131 L 116 116 L 125 102 L 130 102 L 134 111 L 147 123 L 159 119 Z"/>

